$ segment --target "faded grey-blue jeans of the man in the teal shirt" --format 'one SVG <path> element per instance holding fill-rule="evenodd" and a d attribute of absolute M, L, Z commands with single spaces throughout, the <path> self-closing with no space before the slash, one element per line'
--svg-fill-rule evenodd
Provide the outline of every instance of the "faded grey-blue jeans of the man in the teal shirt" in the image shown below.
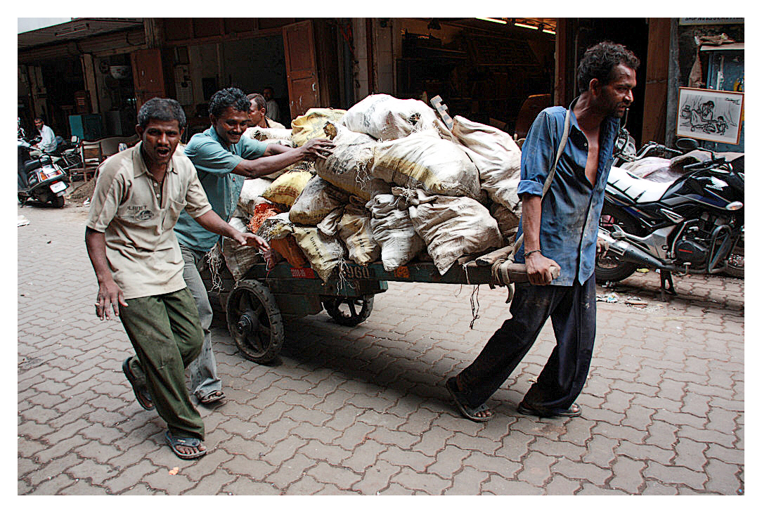
<path fill-rule="evenodd" d="M 212 306 L 207 296 L 207 288 L 203 285 L 203 280 L 198 272 L 198 262 L 204 257 L 204 253 L 195 249 L 180 245 L 180 251 L 183 255 L 185 265 L 183 268 L 183 278 L 188 290 L 196 302 L 198 309 L 198 318 L 203 330 L 203 345 L 198 357 L 188 366 L 191 370 L 191 393 L 197 398 L 202 398 L 212 392 L 223 390 L 223 382 L 217 376 L 217 362 L 212 352 Z"/>

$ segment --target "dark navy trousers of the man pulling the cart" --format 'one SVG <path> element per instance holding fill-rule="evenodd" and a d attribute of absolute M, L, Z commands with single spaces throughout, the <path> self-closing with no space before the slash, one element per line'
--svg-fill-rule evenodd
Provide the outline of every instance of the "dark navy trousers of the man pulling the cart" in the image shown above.
<path fill-rule="evenodd" d="M 550 317 L 555 348 L 524 401 L 546 409 L 571 406 L 588 377 L 595 341 L 595 275 L 583 285 L 517 284 L 511 319 L 460 373 L 469 406 L 476 407 L 507 380 Z"/>

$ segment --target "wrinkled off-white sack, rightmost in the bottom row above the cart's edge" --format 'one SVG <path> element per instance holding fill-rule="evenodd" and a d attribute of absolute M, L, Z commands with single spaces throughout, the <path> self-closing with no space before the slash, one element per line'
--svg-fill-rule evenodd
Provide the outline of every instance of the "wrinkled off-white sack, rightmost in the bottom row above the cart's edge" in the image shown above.
<path fill-rule="evenodd" d="M 420 189 L 408 208 L 415 232 L 440 274 L 463 255 L 503 247 L 498 222 L 489 210 L 470 197 L 427 196 Z"/>

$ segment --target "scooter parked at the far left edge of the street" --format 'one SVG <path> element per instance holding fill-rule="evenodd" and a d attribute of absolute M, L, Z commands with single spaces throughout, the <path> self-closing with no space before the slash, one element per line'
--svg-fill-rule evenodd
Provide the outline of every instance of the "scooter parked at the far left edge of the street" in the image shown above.
<path fill-rule="evenodd" d="M 30 144 L 18 139 L 18 200 L 21 207 L 29 200 L 63 207 L 69 176 L 51 156 L 43 154 L 32 158 L 30 152 Z"/>

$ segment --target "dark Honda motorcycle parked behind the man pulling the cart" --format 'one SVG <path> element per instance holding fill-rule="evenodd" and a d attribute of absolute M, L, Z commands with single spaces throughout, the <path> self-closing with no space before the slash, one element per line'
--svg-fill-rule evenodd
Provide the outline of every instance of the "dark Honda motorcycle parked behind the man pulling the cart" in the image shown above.
<path fill-rule="evenodd" d="M 639 267 L 656 268 L 662 295 L 674 295 L 672 273 L 744 276 L 744 157 L 728 162 L 695 139 L 679 139 L 677 147 L 711 158 L 682 165 L 682 174 L 668 181 L 611 168 L 599 223 L 609 248 L 596 261 L 599 283 L 621 281 Z M 649 152 L 677 151 L 648 143 L 636 156 Z M 632 152 L 617 158 L 636 160 Z"/>

